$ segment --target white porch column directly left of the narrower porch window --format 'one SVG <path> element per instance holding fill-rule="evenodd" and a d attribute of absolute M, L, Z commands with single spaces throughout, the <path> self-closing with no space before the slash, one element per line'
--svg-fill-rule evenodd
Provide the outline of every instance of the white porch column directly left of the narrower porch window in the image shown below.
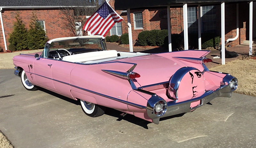
<path fill-rule="evenodd" d="M 184 49 L 188 50 L 188 6 L 183 3 Z"/>

